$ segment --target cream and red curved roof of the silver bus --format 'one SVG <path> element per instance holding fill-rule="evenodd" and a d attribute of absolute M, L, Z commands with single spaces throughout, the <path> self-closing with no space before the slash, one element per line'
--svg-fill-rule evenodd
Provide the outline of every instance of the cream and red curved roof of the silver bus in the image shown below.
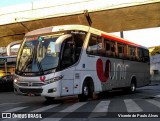
<path fill-rule="evenodd" d="M 124 44 L 131 45 L 134 47 L 141 47 L 141 48 L 147 49 L 144 46 L 138 45 L 138 44 L 133 43 L 131 41 L 128 41 L 126 39 L 114 36 L 114 35 L 109 34 L 107 32 L 104 32 L 104 31 L 101 31 L 101 30 L 98 30 L 98 29 L 95 29 L 95 28 L 92 28 L 89 26 L 85 26 L 85 25 L 60 25 L 60 26 L 45 27 L 45 28 L 41 28 L 41 29 L 37 29 L 37 30 L 33 30 L 31 32 L 28 32 L 25 36 L 40 35 L 40 34 L 65 31 L 65 30 L 81 30 L 81 31 L 86 31 L 86 32 L 90 31 L 91 33 L 95 31 L 95 32 L 98 32 L 97 35 L 100 35 L 104 38 L 111 39 L 111 40 L 114 40 L 117 42 L 122 42 Z"/>

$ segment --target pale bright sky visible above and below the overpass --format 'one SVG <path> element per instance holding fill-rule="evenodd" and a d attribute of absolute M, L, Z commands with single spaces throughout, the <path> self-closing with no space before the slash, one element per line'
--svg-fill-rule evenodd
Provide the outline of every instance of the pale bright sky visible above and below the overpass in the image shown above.
<path fill-rule="evenodd" d="M 0 7 L 6 7 L 21 3 L 30 3 L 33 1 L 38 0 L 0 0 Z M 119 32 L 113 34 L 117 36 L 120 35 Z M 160 45 L 160 27 L 125 31 L 124 39 L 143 45 L 145 47 L 158 46 Z"/>

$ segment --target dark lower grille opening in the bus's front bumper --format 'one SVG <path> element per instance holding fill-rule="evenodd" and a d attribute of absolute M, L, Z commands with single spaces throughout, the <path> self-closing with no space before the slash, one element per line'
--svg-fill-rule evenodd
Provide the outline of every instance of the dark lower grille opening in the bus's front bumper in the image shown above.
<path fill-rule="evenodd" d="M 42 93 L 43 89 L 25 89 L 25 88 L 19 88 L 19 90 L 22 93 L 31 93 L 31 94 L 40 94 Z"/>

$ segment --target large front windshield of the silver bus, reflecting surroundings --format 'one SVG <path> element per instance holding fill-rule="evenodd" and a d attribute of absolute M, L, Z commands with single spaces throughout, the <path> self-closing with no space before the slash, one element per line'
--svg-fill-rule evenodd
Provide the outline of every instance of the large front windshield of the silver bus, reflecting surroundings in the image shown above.
<path fill-rule="evenodd" d="M 26 37 L 18 54 L 16 71 L 43 74 L 47 70 L 55 69 L 59 61 L 59 52 L 55 48 L 58 37 Z"/>

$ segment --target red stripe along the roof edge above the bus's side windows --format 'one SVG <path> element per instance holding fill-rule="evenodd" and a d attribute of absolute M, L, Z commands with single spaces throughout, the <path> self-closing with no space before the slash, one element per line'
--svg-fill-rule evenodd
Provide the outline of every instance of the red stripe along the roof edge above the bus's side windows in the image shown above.
<path fill-rule="evenodd" d="M 128 45 L 140 47 L 140 45 L 129 42 L 129 41 L 127 41 L 125 39 L 122 39 L 122 38 L 117 38 L 117 37 L 114 37 L 114 36 L 111 36 L 111 35 L 106 35 L 106 34 L 101 34 L 101 36 L 106 38 L 106 39 L 111 39 L 111 40 L 114 40 L 114 41 L 117 41 L 117 42 L 122 42 L 122 43 L 125 43 L 125 44 L 128 44 Z"/>

